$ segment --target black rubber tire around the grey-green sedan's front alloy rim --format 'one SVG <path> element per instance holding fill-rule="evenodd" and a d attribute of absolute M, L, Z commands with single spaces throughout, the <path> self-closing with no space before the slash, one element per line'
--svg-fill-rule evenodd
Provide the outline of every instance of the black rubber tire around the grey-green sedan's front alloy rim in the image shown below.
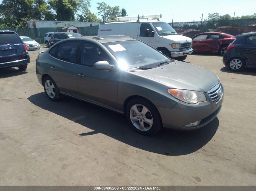
<path fill-rule="evenodd" d="M 146 125 L 148 125 L 147 128 L 149 128 L 148 130 L 145 130 L 145 131 L 142 131 L 138 128 L 136 128 L 134 126 L 135 123 L 137 123 L 138 126 L 140 126 L 140 121 L 144 120 L 144 118 L 142 117 L 142 119 L 138 119 L 138 121 L 136 121 L 135 123 L 132 123 L 131 121 L 131 118 L 130 118 L 130 115 L 134 116 L 137 114 L 136 113 L 133 113 L 133 111 L 131 110 L 131 108 L 138 104 L 139 106 L 137 107 L 137 109 L 139 110 L 140 107 L 143 108 L 146 107 L 149 112 L 145 113 L 145 116 L 143 116 L 144 118 L 148 118 L 148 119 L 153 119 L 153 123 L 152 123 L 152 126 L 151 128 L 149 127 L 148 123 L 146 123 L 145 121 L 143 121 L 142 123 L 145 124 L 143 126 L 146 127 Z M 141 106 L 142 105 L 142 106 Z M 142 110 L 142 109 L 141 109 Z M 131 114 L 130 113 L 133 113 Z M 130 124 L 131 128 L 140 133 L 141 135 L 154 135 L 155 133 L 157 133 L 161 128 L 162 128 L 162 120 L 161 120 L 161 116 L 160 116 L 160 113 L 158 112 L 157 108 L 154 106 L 153 103 L 151 103 L 149 100 L 146 100 L 144 98 L 134 98 L 133 100 L 131 100 L 128 104 L 127 104 L 127 107 L 126 107 L 126 111 L 125 111 L 125 115 L 126 115 L 126 119 L 128 120 L 128 123 Z M 148 116 L 147 116 L 148 115 Z M 140 117 L 140 116 L 138 116 Z M 146 120 L 146 119 L 145 119 Z M 136 124 L 135 124 L 136 125 Z"/>

